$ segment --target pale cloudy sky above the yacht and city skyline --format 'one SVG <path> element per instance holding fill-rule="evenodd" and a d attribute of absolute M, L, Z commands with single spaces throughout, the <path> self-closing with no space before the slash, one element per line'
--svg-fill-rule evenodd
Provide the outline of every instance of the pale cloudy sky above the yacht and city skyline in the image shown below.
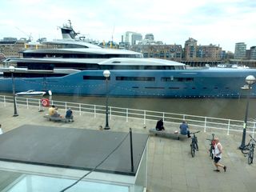
<path fill-rule="evenodd" d="M 253 0 L 1 0 L 0 39 L 62 38 L 58 26 L 72 22 L 76 32 L 102 42 L 121 42 L 134 31 L 184 47 L 213 44 L 234 52 L 236 42 L 256 46 Z"/>

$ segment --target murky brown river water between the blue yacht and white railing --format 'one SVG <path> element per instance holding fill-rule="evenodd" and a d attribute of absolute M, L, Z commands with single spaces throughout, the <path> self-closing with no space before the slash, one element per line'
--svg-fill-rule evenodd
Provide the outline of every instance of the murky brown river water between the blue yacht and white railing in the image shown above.
<path fill-rule="evenodd" d="M 54 100 L 106 105 L 105 97 L 53 95 Z M 256 99 L 250 98 L 248 118 L 256 118 Z M 213 118 L 243 120 L 246 98 L 109 98 L 109 106 L 138 110 L 154 110 Z"/>

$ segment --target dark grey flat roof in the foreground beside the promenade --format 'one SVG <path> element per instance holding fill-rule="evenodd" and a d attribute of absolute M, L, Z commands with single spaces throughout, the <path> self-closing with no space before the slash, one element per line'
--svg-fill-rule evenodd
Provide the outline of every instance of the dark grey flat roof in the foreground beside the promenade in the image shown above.
<path fill-rule="evenodd" d="M 90 170 L 126 137 L 127 133 L 54 126 L 24 125 L 0 135 L 0 160 L 43 166 Z M 134 175 L 148 134 L 133 133 L 134 172 L 131 172 L 130 137 L 97 171 Z"/>

